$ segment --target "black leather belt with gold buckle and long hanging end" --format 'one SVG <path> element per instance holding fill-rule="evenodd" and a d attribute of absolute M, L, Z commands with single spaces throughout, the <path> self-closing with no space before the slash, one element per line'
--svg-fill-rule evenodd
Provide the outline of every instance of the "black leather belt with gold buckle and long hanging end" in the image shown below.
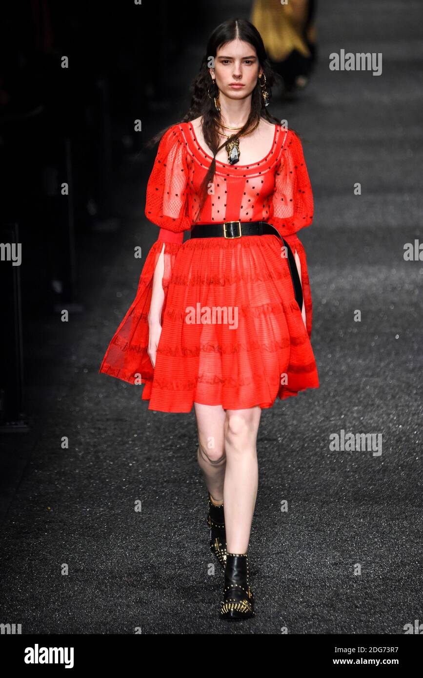
<path fill-rule="evenodd" d="M 190 232 L 191 238 L 241 238 L 244 235 L 276 235 L 286 247 L 289 272 L 291 273 L 294 294 L 300 311 L 302 311 L 302 287 L 294 254 L 287 241 L 283 239 L 277 228 L 265 221 L 224 221 L 222 224 L 196 224 Z"/>

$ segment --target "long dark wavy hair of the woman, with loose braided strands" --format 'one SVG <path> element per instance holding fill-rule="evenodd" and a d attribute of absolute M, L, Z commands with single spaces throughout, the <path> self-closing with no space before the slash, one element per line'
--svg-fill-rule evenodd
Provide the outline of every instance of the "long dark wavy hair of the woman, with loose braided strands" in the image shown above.
<path fill-rule="evenodd" d="M 264 81 L 264 78 L 262 77 L 260 81 L 258 79 L 256 87 L 254 87 L 253 92 L 251 93 L 251 111 L 242 129 L 239 129 L 239 131 L 236 134 L 233 134 L 233 136 L 231 136 L 230 138 L 225 138 L 224 142 L 222 142 L 222 144 L 219 145 L 219 134 L 218 134 L 219 126 L 218 123 L 216 122 L 216 107 L 214 105 L 214 97 L 218 96 L 219 91 L 218 85 L 216 84 L 216 80 L 213 83 L 212 78 L 210 77 L 209 60 L 211 56 L 216 57 L 218 49 L 222 47 L 222 45 L 225 45 L 226 43 L 235 39 L 245 41 L 253 45 L 253 47 L 256 49 L 256 54 L 260 62 L 260 66 L 262 67 L 263 73 L 266 76 L 266 89 L 268 91 L 269 99 L 272 95 L 272 87 L 275 85 L 275 83 L 279 83 L 279 81 L 281 81 L 281 77 L 277 73 L 275 73 L 275 71 L 273 71 L 273 68 L 270 66 L 270 63 L 268 62 L 266 49 L 264 48 L 262 37 L 258 32 L 257 28 L 253 24 L 251 24 L 246 19 L 235 18 L 228 19 L 222 24 L 219 24 L 219 26 L 217 26 L 214 29 L 212 35 L 210 35 L 209 40 L 207 41 L 207 47 L 203 59 L 201 60 L 199 73 L 195 77 L 190 87 L 190 92 L 192 94 L 190 108 L 186 115 L 184 115 L 184 117 L 182 118 L 182 121 L 179 121 L 179 123 L 189 122 L 199 116 L 202 116 L 203 136 L 205 138 L 205 141 L 207 142 L 207 145 L 213 152 L 212 163 L 210 163 L 210 167 L 207 170 L 207 174 L 205 175 L 205 178 L 201 183 L 200 188 L 201 204 L 197 212 L 196 220 L 199 217 L 201 208 L 203 207 L 205 199 L 207 198 L 208 195 L 207 186 L 210 182 L 212 182 L 214 178 L 214 173 L 216 171 L 216 154 L 218 153 L 218 151 L 220 151 L 220 148 L 222 148 L 225 144 L 227 144 L 231 140 L 237 139 L 244 132 L 247 132 L 247 129 L 249 129 L 249 127 L 253 126 L 254 124 L 258 123 L 260 118 L 264 118 L 268 122 L 280 124 L 279 119 L 273 115 L 270 115 L 270 113 L 268 113 L 267 111 L 267 108 L 264 106 L 262 90 L 260 87 L 260 81 Z M 160 132 L 158 132 L 153 138 L 151 138 L 147 142 L 146 146 L 153 146 L 157 144 L 157 142 L 159 142 L 163 134 L 167 132 L 167 129 L 179 123 L 172 123 L 172 125 L 165 127 L 165 129 L 161 129 Z"/>

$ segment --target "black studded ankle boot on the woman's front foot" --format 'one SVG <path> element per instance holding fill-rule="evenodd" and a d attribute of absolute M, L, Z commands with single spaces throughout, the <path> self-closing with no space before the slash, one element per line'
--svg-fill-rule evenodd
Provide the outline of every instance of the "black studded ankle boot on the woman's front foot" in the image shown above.
<path fill-rule="evenodd" d="M 246 553 L 226 552 L 225 583 L 220 618 L 248 619 L 255 616 L 254 595 L 249 586 Z"/>

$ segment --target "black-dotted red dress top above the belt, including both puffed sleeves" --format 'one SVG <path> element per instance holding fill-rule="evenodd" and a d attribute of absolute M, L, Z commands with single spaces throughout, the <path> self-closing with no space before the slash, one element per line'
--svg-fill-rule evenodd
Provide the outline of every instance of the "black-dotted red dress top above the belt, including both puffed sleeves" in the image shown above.
<path fill-rule="evenodd" d="M 148 180 L 146 217 L 172 234 L 188 231 L 199 211 L 201 181 L 211 159 L 199 146 L 191 123 L 170 127 Z M 272 148 L 259 162 L 216 161 L 212 191 L 198 224 L 266 221 L 285 237 L 313 221 L 313 193 L 302 144 L 295 132 L 280 125 L 275 125 Z M 182 243 L 183 234 L 176 237 L 162 231 L 159 237 Z"/>

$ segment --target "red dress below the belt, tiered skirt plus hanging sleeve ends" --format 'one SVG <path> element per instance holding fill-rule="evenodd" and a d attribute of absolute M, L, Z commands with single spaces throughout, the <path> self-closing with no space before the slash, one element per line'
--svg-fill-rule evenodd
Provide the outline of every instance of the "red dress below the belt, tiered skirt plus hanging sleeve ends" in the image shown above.
<path fill-rule="evenodd" d="M 281 245 L 273 235 L 165 243 L 165 303 L 153 369 L 148 310 L 163 242 L 154 243 L 99 372 L 145 384 L 142 399 L 160 412 L 190 412 L 195 402 L 225 410 L 272 407 L 277 397 L 319 388 L 304 247 L 297 239 L 306 325 Z"/>

